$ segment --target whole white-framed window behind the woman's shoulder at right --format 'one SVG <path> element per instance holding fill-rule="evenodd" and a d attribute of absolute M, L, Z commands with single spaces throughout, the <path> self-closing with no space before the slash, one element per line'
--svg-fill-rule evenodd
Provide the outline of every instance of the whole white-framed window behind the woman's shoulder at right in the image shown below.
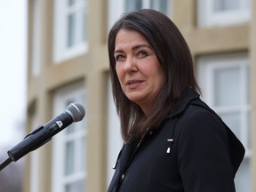
<path fill-rule="evenodd" d="M 198 59 L 198 83 L 202 99 L 244 144 L 245 157 L 236 174 L 236 191 L 251 191 L 249 64 L 246 54 L 205 56 Z"/>

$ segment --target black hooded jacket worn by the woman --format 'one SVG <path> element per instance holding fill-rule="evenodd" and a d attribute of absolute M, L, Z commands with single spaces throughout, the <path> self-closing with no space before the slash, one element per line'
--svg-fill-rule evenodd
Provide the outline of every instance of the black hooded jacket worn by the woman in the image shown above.
<path fill-rule="evenodd" d="M 124 144 L 108 192 L 234 192 L 244 147 L 189 91 L 140 143 Z"/>

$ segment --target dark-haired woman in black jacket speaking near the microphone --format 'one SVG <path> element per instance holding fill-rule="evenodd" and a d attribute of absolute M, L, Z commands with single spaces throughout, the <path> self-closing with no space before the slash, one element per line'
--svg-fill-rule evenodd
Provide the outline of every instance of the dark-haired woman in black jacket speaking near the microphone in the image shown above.
<path fill-rule="evenodd" d="M 108 34 L 124 146 L 108 192 L 232 192 L 244 158 L 236 136 L 199 98 L 191 54 L 161 12 L 140 10 Z"/>

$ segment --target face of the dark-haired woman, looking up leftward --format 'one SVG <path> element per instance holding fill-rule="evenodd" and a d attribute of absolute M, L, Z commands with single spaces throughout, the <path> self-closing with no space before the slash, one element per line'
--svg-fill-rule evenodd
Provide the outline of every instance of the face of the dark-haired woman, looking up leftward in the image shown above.
<path fill-rule="evenodd" d="M 124 94 L 147 116 L 164 84 L 164 71 L 156 53 L 140 33 L 120 29 L 116 35 L 114 57 Z"/>

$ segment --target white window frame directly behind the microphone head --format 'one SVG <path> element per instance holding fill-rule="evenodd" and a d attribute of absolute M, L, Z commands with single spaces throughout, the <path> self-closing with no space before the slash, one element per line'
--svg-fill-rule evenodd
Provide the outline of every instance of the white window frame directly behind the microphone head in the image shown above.
<path fill-rule="evenodd" d="M 82 83 L 72 84 L 67 87 L 61 88 L 53 93 L 53 116 L 58 116 L 60 112 L 63 112 L 67 107 L 67 101 L 74 100 L 81 103 L 86 108 L 86 92 L 84 92 L 84 85 Z M 87 180 L 87 165 L 86 165 L 86 140 L 87 140 L 87 128 L 85 124 L 85 118 L 81 122 L 77 122 L 76 126 L 85 126 L 81 132 L 75 132 L 74 134 L 67 134 L 68 127 L 59 132 L 58 135 L 52 139 L 52 192 L 65 192 L 65 187 L 68 183 L 72 183 L 78 180 L 84 180 L 84 188 L 86 188 Z M 79 125 L 78 125 L 79 124 Z M 69 127 L 71 128 L 71 127 Z M 84 171 L 75 172 L 73 174 L 65 174 L 65 146 L 68 141 L 77 141 L 78 139 L 85 139 L 84 153 L 85 153 L 85 167 Z M 76 143 L 75 143 L 76 144 Z M 75 150 L 78 150 L 75 148 Z M 76 153 L 77 154 L 77 153 Z M 77 156 L 75 158 L 75 167 L 77 163 Z M 83 164 L 83 162 L 82 162 Z"/>

